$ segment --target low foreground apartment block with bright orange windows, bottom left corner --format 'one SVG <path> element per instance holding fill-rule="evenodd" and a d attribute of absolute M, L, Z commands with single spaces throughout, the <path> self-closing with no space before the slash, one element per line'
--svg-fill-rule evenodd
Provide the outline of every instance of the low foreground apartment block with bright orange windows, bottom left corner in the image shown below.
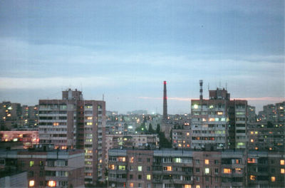
<path fill-rule="evenodd" d="M 84 187 L 83 150 L 0 150 L 0 169 L 26 171 L 24 187 Z"/>

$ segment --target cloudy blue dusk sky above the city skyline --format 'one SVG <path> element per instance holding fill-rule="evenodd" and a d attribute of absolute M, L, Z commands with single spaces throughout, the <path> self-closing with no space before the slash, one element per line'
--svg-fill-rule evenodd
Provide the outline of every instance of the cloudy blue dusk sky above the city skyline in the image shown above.
<path fill-rule="evenodd" d="M 263 105 L 285 98 L 284 1 L 0 1 L 0 101 L 83 90 L 107 110 L 190 113 L 199 80 Z"/>

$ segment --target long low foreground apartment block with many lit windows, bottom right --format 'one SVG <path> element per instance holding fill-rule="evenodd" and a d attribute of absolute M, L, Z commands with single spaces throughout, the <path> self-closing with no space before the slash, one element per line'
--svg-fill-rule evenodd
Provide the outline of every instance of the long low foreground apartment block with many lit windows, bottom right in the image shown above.
<path fill-rule="evenodd" d="M 284 153 L 109 150 L 109 187 L 283 187 Z M 264 165 L 265 164 L 265 165 Z M 265 169 L 267 172 L 265 172 Z"/>

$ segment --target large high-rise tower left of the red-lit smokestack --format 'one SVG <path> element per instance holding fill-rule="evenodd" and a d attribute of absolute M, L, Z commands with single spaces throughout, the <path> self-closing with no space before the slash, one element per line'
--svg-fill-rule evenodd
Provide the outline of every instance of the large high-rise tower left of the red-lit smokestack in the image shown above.
<path fill-rule="evenodd" d="M 39 100 L 41 145 L 84 149 L 86 183 L 104 181 L 105 101 L 83 100 L 79 90 L 66 90 L 61 100 Z"/>

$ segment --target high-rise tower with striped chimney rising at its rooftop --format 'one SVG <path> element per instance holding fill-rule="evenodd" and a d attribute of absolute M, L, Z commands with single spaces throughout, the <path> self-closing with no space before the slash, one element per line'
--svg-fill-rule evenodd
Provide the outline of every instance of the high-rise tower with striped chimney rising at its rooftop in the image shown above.
<path fill-rule="evenodd" d="M 201 91 L 199 100 L 191 100 L 191 147 L 245 148 L 247 100 L 230 100 L 224 88 L 209 90 L 203 99 Z"/>

